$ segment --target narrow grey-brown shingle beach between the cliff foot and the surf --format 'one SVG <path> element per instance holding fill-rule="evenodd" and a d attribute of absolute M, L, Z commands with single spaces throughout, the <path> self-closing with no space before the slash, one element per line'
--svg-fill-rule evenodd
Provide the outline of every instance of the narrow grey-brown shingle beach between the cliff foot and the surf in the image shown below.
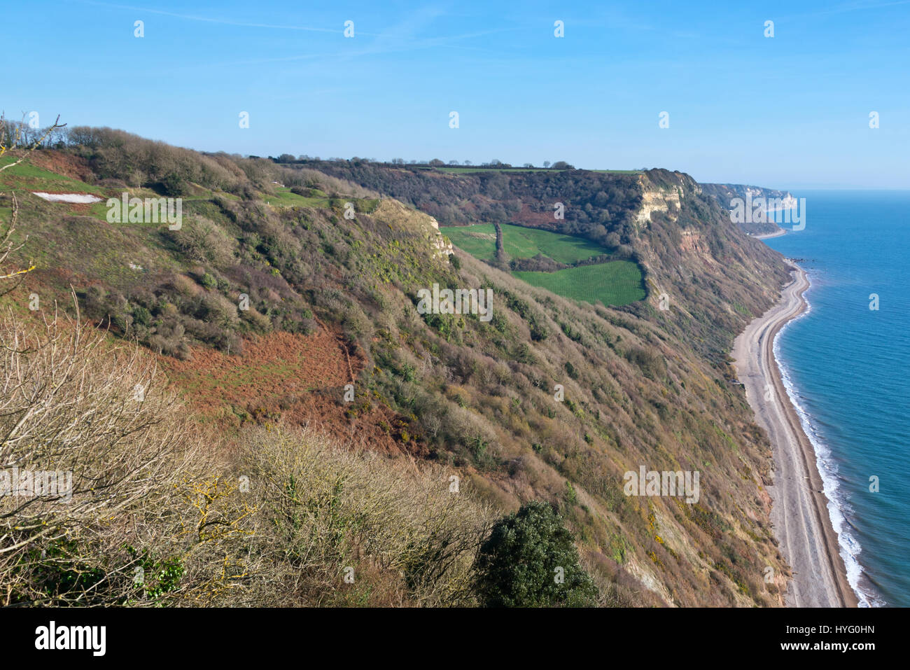
<path fill-rule="evenodd" d="M 781 300 L 752 320 L 736 338 L 733 359 L 756 423 L 772 444 L 773 485 L 768 487 L 773 502 L 771 521 L 793 571 L 786 604 L 855 607 L 858 600 L 847 581 L 816 454 L 774 358 L 778 332 L 807 309 L 803 294 L 809 288 L 809 279 L 803 269 L 791 266 L 795 277 L 782 290 Z"/>

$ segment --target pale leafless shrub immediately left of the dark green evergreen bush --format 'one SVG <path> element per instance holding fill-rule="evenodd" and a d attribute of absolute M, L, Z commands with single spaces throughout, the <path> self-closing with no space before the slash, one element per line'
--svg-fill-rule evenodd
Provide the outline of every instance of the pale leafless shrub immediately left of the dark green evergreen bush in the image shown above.
<path fill-rule="evenodd" d="M 376 584 L 412 604 L 476 604 L 470 569 L 491 515 L 465 489 L 450 492 L 450 470 L 417 470 L 282 427 L 249 429 L 241 450 L 240 472 L 258 482 L 251 542 L 270 566 L 250 580 L 260 602 L 344 604 L 354 597 L 341 580 L 350 566 L 373 571 L 361 596 L 368 604 L 389 604 L 370 597 Z"/>

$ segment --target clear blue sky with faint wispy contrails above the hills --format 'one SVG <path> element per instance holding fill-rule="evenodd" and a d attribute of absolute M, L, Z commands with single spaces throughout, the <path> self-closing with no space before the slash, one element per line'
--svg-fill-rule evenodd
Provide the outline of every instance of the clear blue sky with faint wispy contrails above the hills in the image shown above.
<path fill-rule="evenodd" d="M 771 188 L 910 188 L 910 0 L 60 0 L 3 15 L 0 107 L 38 111 L 43 125 L 60 114 L 260 156 L 567 160 Z"/>

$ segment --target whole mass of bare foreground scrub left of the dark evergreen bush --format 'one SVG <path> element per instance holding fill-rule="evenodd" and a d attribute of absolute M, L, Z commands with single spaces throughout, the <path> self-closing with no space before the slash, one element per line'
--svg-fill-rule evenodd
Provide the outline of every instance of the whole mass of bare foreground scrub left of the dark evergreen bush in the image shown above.
<path fill-rule="evenodd" d="M 146 352 L 16 317 L 0 344 L 5 605 L 477 604 L 493 513 L 453 471 L 268 425 L 203 451 Z"/>

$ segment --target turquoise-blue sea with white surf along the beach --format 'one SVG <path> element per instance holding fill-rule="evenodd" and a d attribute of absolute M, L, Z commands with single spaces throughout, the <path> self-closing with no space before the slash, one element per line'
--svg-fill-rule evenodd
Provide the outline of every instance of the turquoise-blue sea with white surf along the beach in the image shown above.
<path fill-rule="evenodd" d="M 765 243 L 803 259 L 810 309 L 781 331 L 777 358 L 854 591 L 910 606 L 910 191 L 794 195 L 804 230 Z"/>

